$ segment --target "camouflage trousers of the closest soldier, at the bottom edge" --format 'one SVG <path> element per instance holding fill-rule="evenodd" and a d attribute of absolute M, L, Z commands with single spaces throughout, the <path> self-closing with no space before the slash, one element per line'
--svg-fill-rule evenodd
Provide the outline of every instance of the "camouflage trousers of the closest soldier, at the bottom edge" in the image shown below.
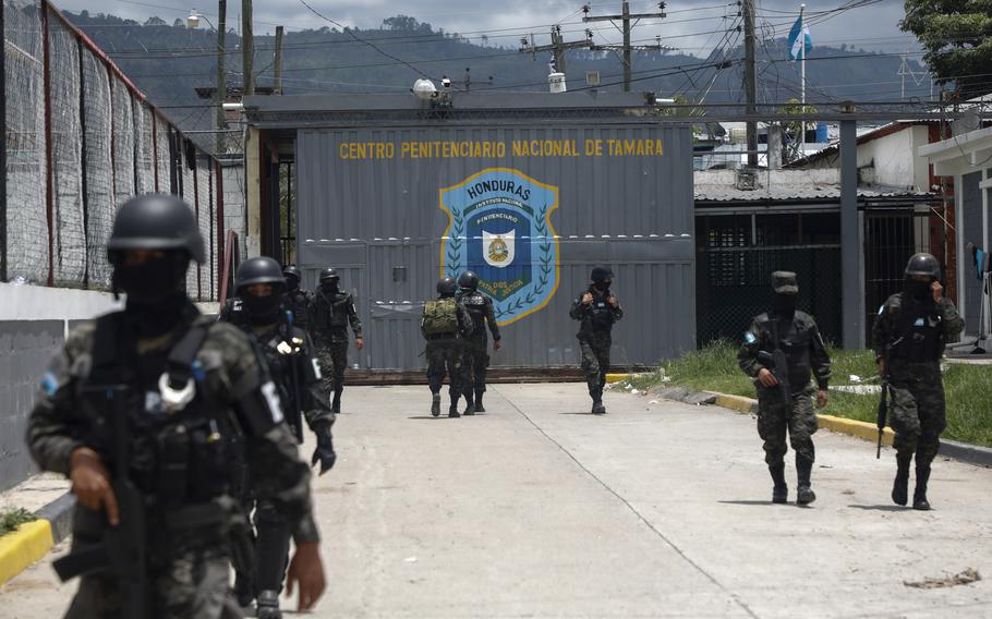
<path fill-rule="evenodd" d="M 148 574 L 154 619 L 238 619 L 243 617 L 229 595 L 230 559 L 220 548 L 178 553 Z M 121 595 L 114 578 L 83 576 L 65 619 L 120 619 Z"/>

